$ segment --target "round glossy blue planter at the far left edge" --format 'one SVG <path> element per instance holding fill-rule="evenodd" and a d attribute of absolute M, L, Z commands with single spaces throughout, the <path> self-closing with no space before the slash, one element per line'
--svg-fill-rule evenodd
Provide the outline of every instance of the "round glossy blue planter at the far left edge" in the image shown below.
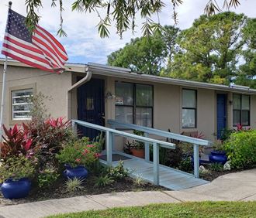
<path fill-rule="evenodd" d="M 27 178 L 22 178 L 16 181 L 7 179 L 2 183 L 1 191 L 5 199 L 20 199 L 26 198 L 31 189 L 31 182 Z"/>

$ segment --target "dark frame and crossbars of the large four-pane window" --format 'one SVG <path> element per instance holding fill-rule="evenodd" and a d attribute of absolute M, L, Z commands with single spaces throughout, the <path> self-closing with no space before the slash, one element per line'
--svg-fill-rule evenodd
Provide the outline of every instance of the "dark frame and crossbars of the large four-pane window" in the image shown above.
<path fill-rule="evenodd" d="M 132 82 L 126 82 L 126 81 L 115 81 L 115 93 L 116 93 L 116 83 L 129 83 L 133 85 L 133 105 L 127 105 L 127 104 L 116 104 L 115 100 L 115 116 L 116 116 L 116 107 L 133 107 L 133 124 L 136 124 L 136 109 L 138 108 L 150 108 L 152 111 L 152 118 L 151 118 L 151 127 L 154 127 L 154 85 L 151 84 L 144 84 L 144 83 L 132 83 Z M 152 106 L 137 106 L 136 100 L 136 92 L 137 92 L 137 85 L 144 85 L 152 88 Z"/>

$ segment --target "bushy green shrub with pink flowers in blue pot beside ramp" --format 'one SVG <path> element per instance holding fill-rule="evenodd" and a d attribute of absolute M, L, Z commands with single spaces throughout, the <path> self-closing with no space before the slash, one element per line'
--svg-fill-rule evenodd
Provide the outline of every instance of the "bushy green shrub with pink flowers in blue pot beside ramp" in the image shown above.
<path fill-rule="evenodd" d="M 92 144 L 88 141 L 88 138 L 83 137 L 76 141 L 68 142 L 56 157 L 59 162 L 71 165 L 71 167 L 86 165 L 90 168 L 98 160 L 99 152 L 97 145 Z"/>

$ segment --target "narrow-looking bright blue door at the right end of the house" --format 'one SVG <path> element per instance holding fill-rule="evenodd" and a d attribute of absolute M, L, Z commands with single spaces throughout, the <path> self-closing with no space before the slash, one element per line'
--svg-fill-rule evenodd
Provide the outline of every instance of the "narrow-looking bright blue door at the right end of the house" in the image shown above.
<path fill-rule="evenodd" d="M 217 94 L 217 138 L 227 127 L 227 94 Z"/>

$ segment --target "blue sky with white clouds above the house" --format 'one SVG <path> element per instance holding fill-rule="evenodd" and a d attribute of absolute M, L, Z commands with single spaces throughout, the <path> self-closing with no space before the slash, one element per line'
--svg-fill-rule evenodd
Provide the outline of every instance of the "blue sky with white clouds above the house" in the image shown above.
<path fill-rule="evenodd" d="M 8 11 L 7 0 L 0 0 L 0 48 L 2 48 L 2 39 L 5 34 L 5 24 Z M 57 30 L 60 25 L 60 14 L 57 8 L 51 8 L 50 0 L 42 0 L 43 8 L 38 12 L 41 16 L 39 25 L 54 36 L 57 35 Z M 69 63 L 102 63 L 106 64 L 107 56 L 117 49 L 125 46 L 130 42 L 130 39 L 141 36 L 140 28 L 143 19 L 137 18 L 137 29 L 133 34 L 131 31 L 123 34 L 123 39 L 120 39 L 116 34 L 115 26 L 110 30 L 109 38 L 101 39 L 96 28 L 99 23 L 99 17 L 96 13 L 85 14 L 80 12 L 71 12 L 71 4 L 74 0 L 64 1 L 64 31 L 67 37 L 56 38 L 62 43 L 69 56 Z M 160 14 L 161 25 L 174 25 L 171 19 L 171 4 L 170 0 L 164 0 L 166 7 Z M 184 0 L 183 5 L 178 6 L 178 27 L 187 29 L 192 26 L 194 19 L 199 18 L 203 14 L 203 9 L 208 0 Z M 223 0 L 216 0 L 222 5 Z M 256 17 L 256 0 L 240 0 L 241 5 L 237 9 L 230 9 L 237 13 L 244 13 L 248 17 Z M 12 0 L 12 9 L 21 15 L 26 16 L 25 0 Z M 154 21 L 157 19 L 153 17 Z M 0 55 L 0 57 L 3 57 Z"/>

